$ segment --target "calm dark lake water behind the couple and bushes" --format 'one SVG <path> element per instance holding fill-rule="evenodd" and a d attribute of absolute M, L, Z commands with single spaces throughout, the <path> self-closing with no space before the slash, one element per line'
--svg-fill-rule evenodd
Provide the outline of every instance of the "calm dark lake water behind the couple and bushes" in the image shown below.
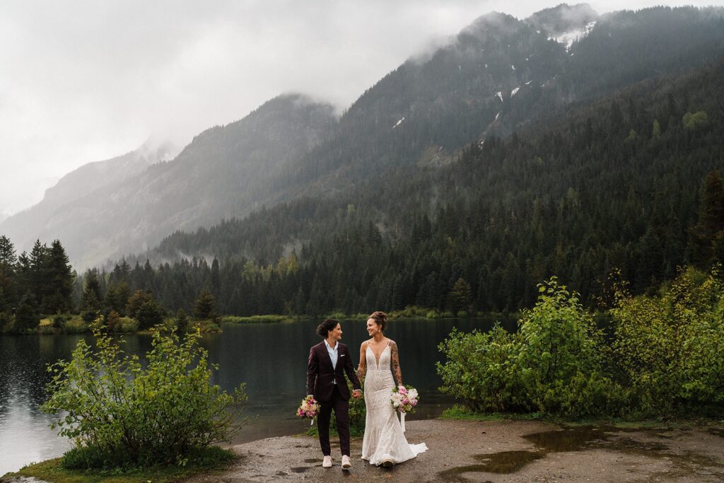
<path fill-rule="evenodd" d="M 315 329 L 319 321 L 287 324 L 224 324 L 223 332 L 203 337 L 209 360 L 219 364 L 214 384 L 233 390 L 246 382 L 250 421 L 235 442 L 298 434 L 308 422 L 295 416 L 305 396 L 306 361 L 311 345 L 321 340 Z M 442 381 L 435 371 L 441 359 L 437 345 L 452 327 L 464 332 L 486 331 L 494 319 L 393 320 L 386 335 L 400 347 L 400 366 L 407 384 L 418 388 L 421 404 L 410 419 L 439 415 L 452 400 L 440 394 Z M 513 329 L 514 321 L 504 321 Z M 363 321 L 342 321 L 342 342 L 350 346 L 357 366 L 359 345 L 368 338 Z M 56 458 L 69 445 L 49 428 L 51 416 L 38 406 L 46 398 L 49 381 L 46 366 L 59 358 L 70 358 L 78 340 L 90 335 L 0 336 L 0 475 L 27 463 Z M 148 335 L 126 335 L 127 353 L 142 355 L 151 348 Z"/>

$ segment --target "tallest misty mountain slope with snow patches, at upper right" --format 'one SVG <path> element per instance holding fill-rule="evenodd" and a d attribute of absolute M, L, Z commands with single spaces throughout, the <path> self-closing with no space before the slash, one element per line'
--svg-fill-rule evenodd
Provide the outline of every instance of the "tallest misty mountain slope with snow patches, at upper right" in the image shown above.
<path fill-rule="evenodd" d="M 555 24 L 557 16 L 557 28 L 573 30 L 597 18 L 586 7 L 562 7 L 542 17 Z M 380 169 L 449 162 L 471 141 L 509 135 L 573 103 L 711 62 L 724 46 L 723 12 L 657 7 L 607 14 L 571 46 L 541 31 L 538 17 L 484 15 L 450 45 L 405 62 L 366 91 L 334 138 L 300 161 L 289 184 L 301 177 L 329 190 Z"/>

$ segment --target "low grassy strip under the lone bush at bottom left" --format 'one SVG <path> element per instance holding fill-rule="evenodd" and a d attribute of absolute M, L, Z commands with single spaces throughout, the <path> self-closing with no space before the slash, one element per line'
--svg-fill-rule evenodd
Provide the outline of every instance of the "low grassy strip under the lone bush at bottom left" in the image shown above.
<path fill-rule="evenodd" d="M 180 482 L 190 476 L 214 474 L 227 469 L 238 461 L 239 457 L 230 450 L 212 447 L 195 461 L 185 466 L 153 466 L 145 469 L 111 469 L 111 470 L 73 470 L 64 469 L 62 458 L 55 458 L 41 463 L 33 463 L 14 473 L 0 478 L 0 482 L 9 481 L 13 477 L 25 476 L 41 479 L 52 483 L 172 483 Z"/>

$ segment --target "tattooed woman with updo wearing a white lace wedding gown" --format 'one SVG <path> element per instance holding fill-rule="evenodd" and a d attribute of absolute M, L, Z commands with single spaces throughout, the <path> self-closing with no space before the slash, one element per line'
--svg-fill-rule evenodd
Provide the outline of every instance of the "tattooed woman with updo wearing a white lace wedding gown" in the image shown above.
<path fill-rule="evenodd" d="M 392 466 L 415 458 L 427 450 L 425 443 L 408 444 L 397 419 L 397 413 L 390 403 L 395 382 L 403 384 L 400 358 L 394 340 L 384 337 L 387 314 L 374 312 L 367 319 L 367 332 L 371 339 L 362 343 L 360 365 L 357 369 L 360 379 L 364 377 L 364 401 L 367 407 L 362 459 L 374 465 Z"/>

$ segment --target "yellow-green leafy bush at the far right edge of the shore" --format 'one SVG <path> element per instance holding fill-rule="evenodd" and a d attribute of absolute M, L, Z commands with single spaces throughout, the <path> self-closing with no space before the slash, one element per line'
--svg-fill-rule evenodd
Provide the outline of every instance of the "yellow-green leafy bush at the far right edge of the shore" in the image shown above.
<path fill-rule="evenodd" d="M 613 350 L 644 413 L 724 406 L 724 290 L 687 269 L 657 297 L 618 287 Z"/>

